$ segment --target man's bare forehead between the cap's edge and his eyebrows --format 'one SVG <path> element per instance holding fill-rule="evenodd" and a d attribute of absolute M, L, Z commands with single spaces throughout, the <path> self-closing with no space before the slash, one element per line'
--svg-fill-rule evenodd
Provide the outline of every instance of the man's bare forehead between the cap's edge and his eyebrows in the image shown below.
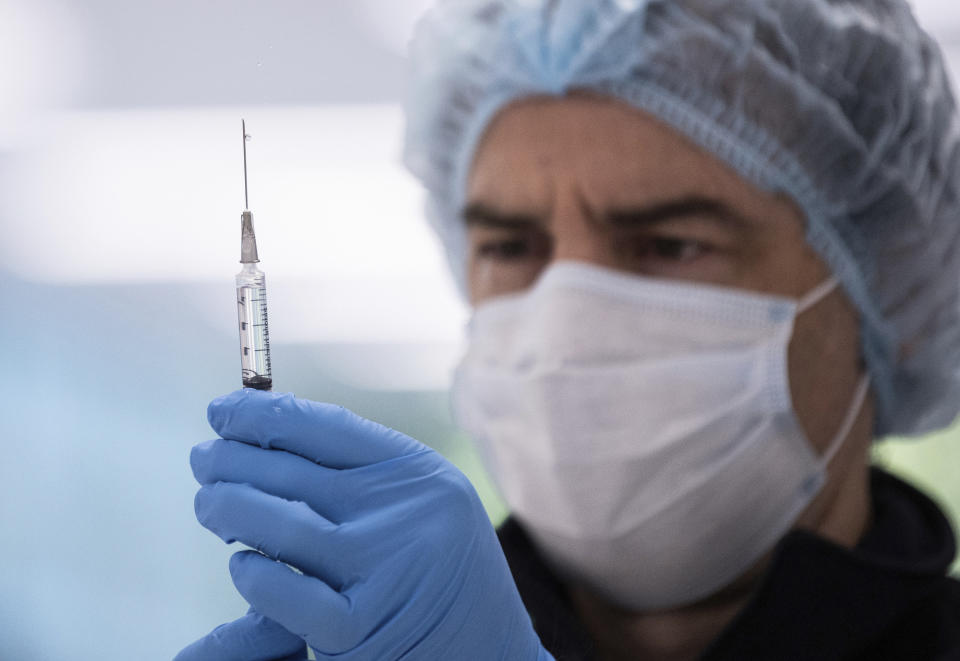
<path fill-rule="evenodd" d="M 544 215 L 557 195 L 634 208 L 701 195 L 765 195 L 650 115 L 596 97 L 536 99 L 501 112 L 481 141 L 465 206 Z"/>

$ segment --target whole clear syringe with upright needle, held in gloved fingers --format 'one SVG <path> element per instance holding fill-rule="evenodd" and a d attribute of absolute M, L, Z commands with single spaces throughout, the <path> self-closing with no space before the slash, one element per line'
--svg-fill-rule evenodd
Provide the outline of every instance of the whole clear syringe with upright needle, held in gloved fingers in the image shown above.
<path fill-rule="evenodd" d="M 253 213 L 247 192 L 247 123 L 243 128 L 243 201 L 240 214 L 240 263 L 243 270 L 237 274 L 237 315 L 240 322 L 240 367 L 243 387 L 270 390 L 273 374 L 270 370 L 270 331 L 267 327 L 266 276 L 257 264 L 257 237 L 253 232 Z"/>

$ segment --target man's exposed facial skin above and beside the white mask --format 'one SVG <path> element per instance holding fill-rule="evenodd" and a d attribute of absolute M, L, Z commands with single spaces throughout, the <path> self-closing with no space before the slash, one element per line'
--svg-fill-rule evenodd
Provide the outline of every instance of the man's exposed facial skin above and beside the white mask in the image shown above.
<path fill-rule="evenodd" d="M 477 150 L 464 215 L 474 304 L 530 287 L 557 260 L 794 299 L 830 276 L 789 200 L 611 99 L 529 99 L 502 112 Z M 789 373 L 822 450 L 861 373 L 857 315 L 839 290 L 798 317 Z"/>

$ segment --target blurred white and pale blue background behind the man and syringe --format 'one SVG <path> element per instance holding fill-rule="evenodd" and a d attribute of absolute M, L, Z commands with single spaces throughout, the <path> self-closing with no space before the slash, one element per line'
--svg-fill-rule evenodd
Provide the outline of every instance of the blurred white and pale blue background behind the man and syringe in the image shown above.
<path fill-rule="evenodd" d="M 399 163 L 427 0 L 0 0 L 0 661 L 145 661 L 245 610 L 187 457 L 239 385 L 250 205 L 275 387 L 443 452 L 467 311 Z M 960 3 L 917 2 L 960 70 Z M 960 519 L 960 429 L 877 461 Z"/>

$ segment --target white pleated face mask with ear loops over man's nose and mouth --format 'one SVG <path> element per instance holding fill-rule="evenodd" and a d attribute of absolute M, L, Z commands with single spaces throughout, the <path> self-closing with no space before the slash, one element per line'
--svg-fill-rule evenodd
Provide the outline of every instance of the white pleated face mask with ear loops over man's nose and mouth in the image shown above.
<path fill-rule="evenodd" d="M 790 529 L 868 388 L 818 456 L 790 399 L 802 301 L 550 267 L 479 306 L 453 403 L 513 514 L 563 576 L 626 608 L 698 601 Z"/>

